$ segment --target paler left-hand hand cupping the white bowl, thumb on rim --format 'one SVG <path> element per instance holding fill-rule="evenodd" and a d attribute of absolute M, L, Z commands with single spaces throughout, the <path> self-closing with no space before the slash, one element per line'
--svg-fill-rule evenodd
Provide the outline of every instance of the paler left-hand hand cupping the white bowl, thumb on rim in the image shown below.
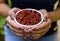
<path fill-rule="evenodd" d="M 24 38 L 24 30 L 23 27 L 19 27 L 15 22 L 14 22 L 14 14 L 20 9 L 18 8 L 13 8 L 11 9 L 8 13 L 9 16 L 6 18 L 7 26 L 11 29 L 12 33 Z"/>

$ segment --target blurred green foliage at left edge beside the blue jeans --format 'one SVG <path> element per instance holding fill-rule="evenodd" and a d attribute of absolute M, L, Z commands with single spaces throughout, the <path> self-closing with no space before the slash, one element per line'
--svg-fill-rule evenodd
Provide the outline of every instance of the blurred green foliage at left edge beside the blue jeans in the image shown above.
<path fill-rule="evenodd" d="M 0 15 L 0 41 L 4 41 L 4 24 L 5 18 Z"/>

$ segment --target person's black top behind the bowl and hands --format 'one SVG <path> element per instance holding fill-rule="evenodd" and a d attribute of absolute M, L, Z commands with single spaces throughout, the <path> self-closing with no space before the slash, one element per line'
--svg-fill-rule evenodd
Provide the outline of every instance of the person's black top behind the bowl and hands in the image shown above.
<path fill-rule="evenodd" d="M 11 7 L 18 7 L 20 9 L 24 8 L 33 8 L 33 9 L 46 9 L 47 11 L 52 11 L 54 8 L 54 4 L 57 0 L 11 0 Z M 48 31 L 48 34 L 54 32 L 54 27 L 56 26 L 56 22 L 52 23 L 51 29 Z"/>

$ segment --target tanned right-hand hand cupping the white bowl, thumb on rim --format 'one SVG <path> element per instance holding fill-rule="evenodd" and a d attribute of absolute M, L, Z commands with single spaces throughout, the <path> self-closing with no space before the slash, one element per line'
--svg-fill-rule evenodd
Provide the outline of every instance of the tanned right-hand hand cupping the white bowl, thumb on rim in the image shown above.
<path fill-rule="evenodd" d="M 45 9 L 40 10 L 40 12 L 44 15 L 44 21 L 38 27 L 30 29 L 31 38 L 38 39 L 45 35 L 49 28 L 51 27 L 51 20 L 48 18 L 48 13 Z"/>

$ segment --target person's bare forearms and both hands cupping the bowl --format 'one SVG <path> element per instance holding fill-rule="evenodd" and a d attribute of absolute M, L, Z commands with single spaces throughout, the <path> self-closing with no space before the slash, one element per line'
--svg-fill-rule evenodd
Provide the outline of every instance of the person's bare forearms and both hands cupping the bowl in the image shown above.
<path fill-rule="evenodd" d="M 5 10 L 6 8 L 6 10 Z M 22 32 L 27 32 L 27 30 L 23 29 L 23 27 L 19 27 L 15 22 L 14 22 L 14 14 L 20 10 L 19 8 L 10 8 L 7 4 L 5 4 L 5 0 L 0 0 L 0 14 L 7 17 L 7 25 L 11 29 L 12 33 L 24 38 L 24 34 Z M 37 39 L 41 36 L 43 36 L 46 32 L 48 32 L 49 28 L 51 27 L 51 22 L 57 21 L 60 19 L 60 7 L 59 9 L 51 12 L 47 12 L 45 9 L 39 10 L 43 13 L 44 15 L 44 22 L 39 25 L 37 28 L 32 28 L 29 30 L 29 32 L 32 32 L 31 38 Z M 11 18 L 12 17 L 12 18 Z M 47 19 L 46 19 L 47 18 Z M 39 32 L 40 31 L 40 32 Z M 37 33 L 36 33 L 37 32 Z M 35 34 L 36 33 L 36 34 Z"/>

